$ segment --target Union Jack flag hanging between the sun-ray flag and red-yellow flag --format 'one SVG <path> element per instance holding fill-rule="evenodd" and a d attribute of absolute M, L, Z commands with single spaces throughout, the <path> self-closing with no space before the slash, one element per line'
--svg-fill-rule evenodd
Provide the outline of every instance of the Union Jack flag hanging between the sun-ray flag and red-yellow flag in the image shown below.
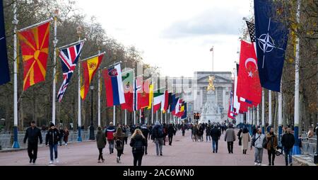
<path fill-rule="evenodd" d="M 57 99 L 59 99 L 59 102 L 61 102 L 66 88 L 69 85 L 69 81 L 71 80 L 76 64 L 78 62 L 78 57 L 81 55 L 83 45 L 84 42 L 81 42 L 77 45 L 61 49 L 59 52 L 59 60 L 61 61 L 64 79 L 63 84 L 61 84 L 61 88 L 59 89 L 59 94 L 57 95 Z"/>

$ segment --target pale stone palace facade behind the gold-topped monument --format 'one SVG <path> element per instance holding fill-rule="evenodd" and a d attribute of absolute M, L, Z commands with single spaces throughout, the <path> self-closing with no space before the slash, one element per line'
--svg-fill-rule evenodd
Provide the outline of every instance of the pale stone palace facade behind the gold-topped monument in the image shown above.
<path fill-rule="evenodd" d="M 168 89 L 187 102 L 187 116 L 193 119 L 193 113 L 204 113 L 208 100 L 209 77 L 213 77 L 213 104 L 220 119 L 228 119 L 228 103 L 232 90 L 232 72 L 194 72 L 194 77 L 167 77 Z M 210 120 L 210 119 L 209 119 Z M 204 120 L 205 122 L 206 120 Z"/>

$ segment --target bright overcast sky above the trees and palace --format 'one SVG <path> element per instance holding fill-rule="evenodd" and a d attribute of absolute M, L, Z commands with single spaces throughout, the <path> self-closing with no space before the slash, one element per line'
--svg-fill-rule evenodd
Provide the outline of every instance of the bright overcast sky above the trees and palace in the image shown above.
<path fill-rule="evenodd" d="M 162 75 L 193 77 L 195 71 L 230 71 L 238 59 L 243 17 L 252 0 L 77 0 L 107 35 L 143 51 Z"/>

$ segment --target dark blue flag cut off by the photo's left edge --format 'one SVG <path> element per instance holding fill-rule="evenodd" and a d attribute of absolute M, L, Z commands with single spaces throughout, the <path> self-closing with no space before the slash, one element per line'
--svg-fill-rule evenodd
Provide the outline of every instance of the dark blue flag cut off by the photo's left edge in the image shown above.
<path fill-rule="evenodd" d="M 4 5 L 0 0 L 0 85 L 10 81 L 8 55 L 6 54 L 6 30 L 4 30 Z"/>

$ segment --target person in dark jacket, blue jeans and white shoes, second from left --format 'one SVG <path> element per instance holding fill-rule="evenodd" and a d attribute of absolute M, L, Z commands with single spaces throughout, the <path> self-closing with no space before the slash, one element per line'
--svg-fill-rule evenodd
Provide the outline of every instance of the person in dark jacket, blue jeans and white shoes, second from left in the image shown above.
<path fill-rule="evenodd" d="M 47 131 L 47 135 L 45 137 L 45 145 L 49 145 L 49 164 L 53 164 L 55 162 L 59 163 L 59 159 L 57 159 L 57 144 L 59 143 L 59 130 L 55 128 L 54 123 L 49 124 L 49 130 Z M 53 159 L 53 150 L 54 150 L 54 159 Z"/>

